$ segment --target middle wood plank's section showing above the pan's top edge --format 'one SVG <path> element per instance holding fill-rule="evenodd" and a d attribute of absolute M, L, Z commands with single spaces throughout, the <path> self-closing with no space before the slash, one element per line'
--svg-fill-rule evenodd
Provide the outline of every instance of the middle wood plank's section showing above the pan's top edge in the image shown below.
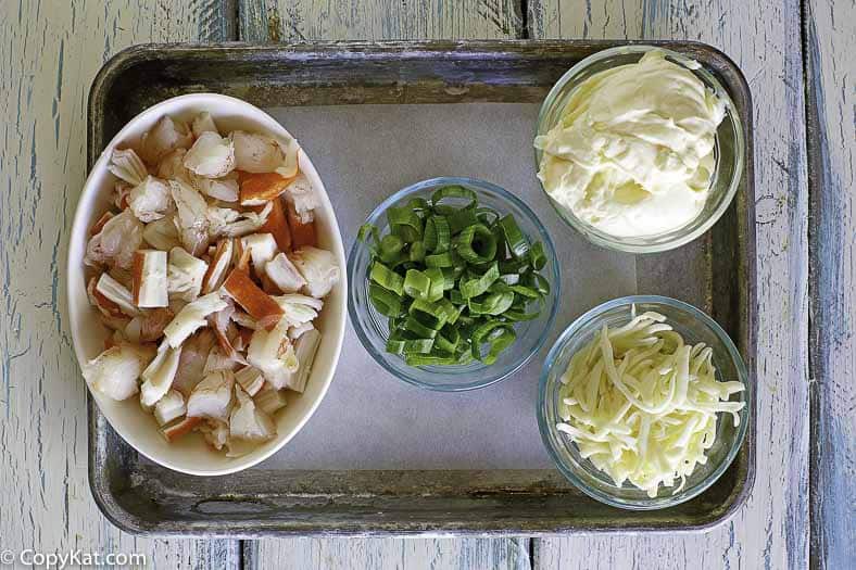
<path fill-rule="evenodd" d="M 239 0 L 246 41 L 514 38 L 517 0 Z"/>

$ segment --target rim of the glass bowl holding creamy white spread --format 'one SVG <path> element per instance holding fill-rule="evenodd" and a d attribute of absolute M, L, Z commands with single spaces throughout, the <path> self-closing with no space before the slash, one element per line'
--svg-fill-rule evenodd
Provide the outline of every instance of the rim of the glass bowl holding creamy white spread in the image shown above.
<path fill-rule="evenodd" d="M 595 245 L 606 248 L 608 250 L 624 252 L 624 253 L 659 253 L 665 251 L 670 251 L 681 245 L 685 245 L 691 241 L 696 240 L 702 235 L 704 235 L 707 230 L 709 230 L 714 225 L 719 221 L 719 218 L 726 213 L 729 208 L 731 203 L 737 195 L 738 190 L 740 189 L 740 185 L 743 180 L 743 174 L 745 170 L 746 164 L 746 136 L 744 132 L 745 125 L 743 124 L 743 119 L 738 112 L 737 105 L 734 104 L 731 94 L 728 92 L 728 89 L 725 88 L 722 83 L 717 79 L 717 77 L 708 71 L 702 63 L 697 62 L 696 60 L 689 58 L 682 53 L 677 51 L 670 50 L 663 46 L 655 46 L 655 45 L 647 45 L 647 43 L 634 43 L 628 46 L 616 46 L 613 48 L 607 48 L 591 55 L 580 60 L 577 64 L 570 67 L 567 72 L 565 72 L 562 77 L 553 85 L 553 87 L 547 92 L 547 96 L 544 98 L 544 101 L 541 103 L 541 107 L 538 112 L 538 119 L 536 122 L 536 131 L 534 136 L 539 136 L 541 134 L 541 127 L 546 119 L 546 114 L 553 104 L 558 99 L 558 96 L 562 93 L 562 90 L 565 86 L 574 78 L 577 74 L 583 72 L 590 65 L 599 63 L 603 60 L 607 60 L 609 58 L 625 55 L 625 54 L 645 54 L 650 51 L 662 51 L 666 54 L 667 58 L 670 60 L 681 64 L 683 67 L 692 72 L 693 74 L 700 75 L 703 80 L 706 83 L 705 88 L 710 88 L 713 86 L 713 90 L 717 97 L 722 99 L 726 104 L 726 117 L 730 119 L 734 125 L 734 173 L 729 181 L 728 190 L 725 193 L 722 201 L 719 205 L 714 210 L 710 215 L 696 227 L 694 230 L 685 232 L 685 233 L 678 233 L 672 237 L 672 239 L 663 241 L 660 243 L 653 243 L 653 244 L 640 244 L 640 243 L 631 243 L 626 241 L 626 238 L 617 238 L 612 236 L 605 231 L 602 231 L 594 226 L 583 221 L 579 217 L 577 217 L 570 208 L 559 207 L 555 200 L 550 195 L 550 193 L 544 188 L 543 182 L 541 179 L 538 179 L 538 183 L 541 188 L 541 191 L 547 198 L 550 205 L 556 212 L 559 218 L 562 218 L 565 224 L 577 230 L 578 232 L 582 233 L 582 236 L 589 240 L 590 242 L 594 243 Z M 575 87 L 576 89 L 576 87 Z M 533 138 L 534 140 L 534 138 Z M 718 136 L 717 136 L 718 141 Z M 534 163 L 536 163 L 536 172 L 540 170 L 540 163 L 541 163 L 541 155 L 542 151 L 538 148 L 534 148 Z M 687 227 L 687 226 L 683 226 Z M 672 232 L 680 232 L 682 228 L 676 228 L 671 230 Z M 666 232 L 669 233 L 669 232 Z M 660 235 L 662 236 L 662 235 Z M 637 238 L 638 239 L 638 238 Z"/>

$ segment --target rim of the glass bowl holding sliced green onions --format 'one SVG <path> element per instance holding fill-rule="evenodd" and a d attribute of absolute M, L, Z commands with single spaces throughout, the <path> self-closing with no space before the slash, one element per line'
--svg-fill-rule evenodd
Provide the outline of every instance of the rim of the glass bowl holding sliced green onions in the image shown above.
<path fill-rule="evenodd" d="M 552 267 L 552 277 L 553 277 L 553 291 L 551 291 L 551 295 L 555 295 L 555 302 L 553 303 L 553 307 L 547 317 L 544 331 L 540 334 L 538 341 L 529 351 L 529 353 L 521 358 L 518 363 L 514 366 L 509 367 L 505 372 L 502 375 L 496 376 L 495 378 L 489 378 L 488 380 L 483 381 L 476 381 L 476 382 L 458 382 L 458 383 L 449 383 L 449 384 L 433 384 L 430 382 L 425 382 L 419 380 L 415 377 L 404 375 L 399 370 L 391 368 L 383 357 L 383 355 L 375 349 L 372 344 L 370 340 L 368 339 L 362 324 L 362 319 L 360 315 L 357 315 L 356 311 L 356 287 L 352 287 L 348 292 L 348 313 L 351 317 L 351 322 L 353 324 L 354 330 L 356 332 L 357 338 L 360 339 L 361 344 L 363 347 L 372 355 L 376 363 L 378 363 L 387 372 L 395 377 L 396 379 L 401 380 L 402 382 L 406 382 L 411 385 L 415 385 L 417 388 L 423 388 L 426 390 L 431 390 L 433 392 L 468 392 L 471 390 L 480 390 L 482 388 L 487 388 L 493 384 L 496 384 L 512 375 L 517 372 L 520 368 L 526 366 L 538 353 L 541 351 L 543 345 L 546 343 L 546 339 L 550 335 L 550 332 L 553 329 L 553 325 L 555 324 L 556 315 L 558 314 L 558 305 L 559 305 L 559 297 L 562 293 L 562 269 L 558 265 L 558 255 L 556 254 L 555 245 L 553 244 L 553 239 L 551 238 L 550 233 L 546 231 L 546 228 L 541 223 L 540 218 L 536 213 L 530 208 L 523 200 L 518 197 L 509 192 L 508 190 L 502 188 L 499 185 L 493 182 L 489 182 L 487 180 L 480 178 L 470 178 L 470 177 L 463 177 L 463 176 L 438 176 L 433 178 L 427 178 L 425 180 L 420 180 L 414 182 L 410 186 L 398 190 L 390 197 L 386 198 L 382 202 L 380 202 L 377 206 L 375 206 L 372 212 L 366 216 L 366 220 L 364 224 L 369 223 L 370 219 L 377 219 L 382 216 L 383 212 L 387 211 L 392 204 L 399 202 L 403 198 L 406 198 L 413 193 L 440 187 L 440 186 L 452 186 L 458 185 L 464 187 L 476 187 L 480 190 L 484 190 L 488 192 L 492 192 L 498 194 L 502 200 L 513 203 L 519 210 L 521 210 L 536 225 L 540 238 L 544 243 L 544 251 L 547 257 L 551 261 Z M 356 271 L 356 257 L 357 255 L 365 249 L 365 244 L 360 241 L 358 239 L 354 239 L 353 244 L 351 245 L 351 251 L 348 255 L 348 275 L 349 278 L 353 278 L 354 283 L 356 283 L 357 276 L 354 275 Z M 386 353 L 383 353 L 386 354 Z M 420 368 L 421 369 L 421 368 Z M 462 375 L 463 376 L 463 375 Z"/>

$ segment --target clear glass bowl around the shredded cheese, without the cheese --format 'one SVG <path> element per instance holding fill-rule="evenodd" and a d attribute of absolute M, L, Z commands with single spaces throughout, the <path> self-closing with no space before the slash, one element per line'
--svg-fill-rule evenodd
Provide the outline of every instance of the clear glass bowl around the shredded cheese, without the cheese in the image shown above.
<path fill-rule="evenodd" d="M 718 380 L 738 380 L 746 385 L 743 392 L 731 395 L 732 402 L 746 404 L 739 411 L 740 426 L 734 427 L 730 414 L 719 414 L 716 442 L 707 451 L 707 463 L 695 467 L 692 476 L 687 479 L 684 487 L 677 494 L 672 494 L 675 487 L 660 486 L 654 498 L 629 482 L 617 486 L 609 476 L 580 456 L 577 445 L 567 434 L 556 429 L 556 423 L 562 421 L 558 415 L 558 393 L 562 387 L 559 379 L 567 369 L 570 358 L 591 341 L 604 324 L 614 327 L 628 322 L 633 304 L 637 314 L 654 311 L 666 316 L 666 322 L 671 325 L 688 344 L 704 342 L 710 346 L 714 351 L 713 363 L 716 366 Z M 550 350 L 541 370 L 538 429 L 558 470 L 580 491 L 614 507 L 652 510 L 672 507 L 689 501 L 719 479 L 743 444 L 753 406 L 753 384 L 750 382 L 743 358 L 726 331 L 714 319 L 694 306 L 675 299 L 631 295 L 608 301 L 589 311 L 565 329 Z"/>

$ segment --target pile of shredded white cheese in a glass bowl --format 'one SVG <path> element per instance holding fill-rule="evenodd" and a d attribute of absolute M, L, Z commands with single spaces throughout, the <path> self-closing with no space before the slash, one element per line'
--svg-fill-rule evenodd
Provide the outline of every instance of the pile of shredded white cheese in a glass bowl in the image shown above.
<path fill-rule="evenodd" d="M 562 377 L 556 429 L 580 455 L 621 486 L 630 481 L 655 497 L 659 485 L 680 484 L 716 439 L 717 414 L 740 423 L 744 402 L 728 402 L 745 390 L 716 379 L 713 350 L 684 344 L 666 317 L 635 316 L 601 332 L 570 359 Z"/>

